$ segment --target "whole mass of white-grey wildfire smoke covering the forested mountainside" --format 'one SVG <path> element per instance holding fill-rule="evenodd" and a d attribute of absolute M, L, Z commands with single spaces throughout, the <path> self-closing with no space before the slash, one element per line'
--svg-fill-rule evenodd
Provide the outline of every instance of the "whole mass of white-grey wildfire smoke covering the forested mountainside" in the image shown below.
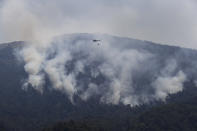
<path fill-rule="evenodd" d="M 93 42 L 95 38 L 102 42 Z M 97 97 L 102 103 L 130 106 L 165 101 L 169 94 L 183 90 L 186 75 L 177 69 L 174 59 L 166 61 L 161 71 L 150 68 L 157 74 L 152 82 L 143 85 L 140 78 L 136 83 L 136 75 L 143 77 L 144 65 L 156 67 L 158 63 L 154 54 L 129 46 L 99 34 L 56 37 L 44 48 L 27 46 L 20 51 L 29 74 L 24 87 L 31 85 L 42 93 L 51 85 L 54 90 L 67 94 L 72 103 L 76 96 L 84 101 Z"/>

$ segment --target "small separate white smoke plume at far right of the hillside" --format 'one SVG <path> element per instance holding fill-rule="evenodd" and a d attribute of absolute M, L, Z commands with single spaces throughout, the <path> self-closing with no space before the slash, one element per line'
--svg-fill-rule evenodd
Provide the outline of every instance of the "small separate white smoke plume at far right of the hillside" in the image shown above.
<path fill-rule="evenodd" d="M 175 60 L 168 61 L 167 66 L 161 72 L 161 76 L 153 82 L 156 99 L 165 101 L 169 94 L 176 94 L 183 90 L 186 75 L 182 71 L 179 71 L 172 76 L 176 68 L 177 64 Z"/>

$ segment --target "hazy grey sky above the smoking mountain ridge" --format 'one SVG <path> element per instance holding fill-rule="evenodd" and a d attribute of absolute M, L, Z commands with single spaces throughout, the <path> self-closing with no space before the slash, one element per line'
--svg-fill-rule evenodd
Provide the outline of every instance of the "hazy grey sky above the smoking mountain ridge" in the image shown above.
<path fill-rule="evenodd" d="M 0 1 L 0 42 L 93 32 L 197 48 L 196 0 Z"/>

